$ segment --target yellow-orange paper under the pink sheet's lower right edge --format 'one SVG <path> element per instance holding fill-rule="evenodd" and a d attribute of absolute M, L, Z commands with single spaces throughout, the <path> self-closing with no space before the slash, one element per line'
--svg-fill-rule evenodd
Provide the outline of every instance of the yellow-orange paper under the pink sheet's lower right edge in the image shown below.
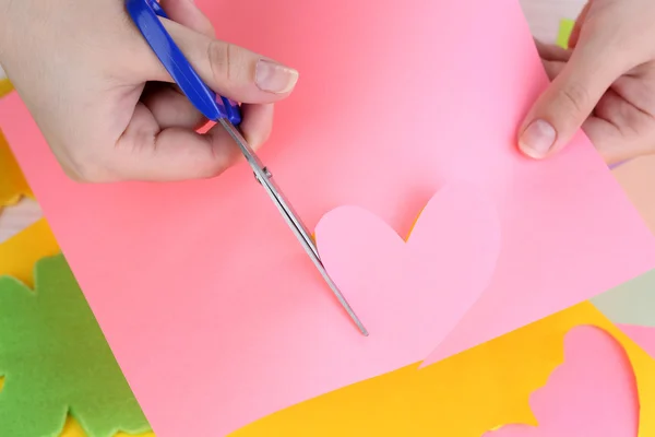
<path fill-rule="evenodd" d="M 567 333 L 585 324 L 614 335 L 629 355 L 644 411 L 640 436 L 651 436 L 655 361 L 584 303 L 418 371 L 408 366 L 295 405 L 231 437 L 472 437 L 509 423 L 536 426 L 529 394 L 562 364 Z M 548 437 L 556 436 L 569 437 Z"/>

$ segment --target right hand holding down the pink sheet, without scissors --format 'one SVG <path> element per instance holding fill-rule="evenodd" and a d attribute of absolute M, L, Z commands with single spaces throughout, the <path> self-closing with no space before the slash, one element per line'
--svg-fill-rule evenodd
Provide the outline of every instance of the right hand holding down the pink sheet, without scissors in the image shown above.
<path fill-rule="evenodd" d="M 608 164 L 655 153 L 655 1 L 592 0 L 568 50 L 538 44 L 552 84 L 520 129 L 543 158 L 582 127 Z"/>

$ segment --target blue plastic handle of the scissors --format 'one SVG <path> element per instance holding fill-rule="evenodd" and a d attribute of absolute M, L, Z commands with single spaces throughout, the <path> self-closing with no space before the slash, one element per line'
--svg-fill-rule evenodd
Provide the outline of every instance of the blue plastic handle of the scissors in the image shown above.
<path fill-rule="evenodd" d="M 239 104 L 216 95 L 200 79 L 159 21 L 158 16 L 168 19 L 159 3 L 156 0 L 127 0 L 126 8 L 159 61 L 193 106 L 210 120 L 226 118 L 235 126 L 240 125 Z"/>

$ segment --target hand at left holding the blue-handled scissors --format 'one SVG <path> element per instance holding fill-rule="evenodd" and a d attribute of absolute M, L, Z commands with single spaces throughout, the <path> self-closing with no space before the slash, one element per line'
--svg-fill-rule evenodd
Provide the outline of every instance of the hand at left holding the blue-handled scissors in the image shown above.
<path fill-rule="evenodd" d="M 215 39 L 192 0 L 162 5 L 205 83 L 245 104 L 241 129 L 259 147 L 298 72 Z M 240 155 L 219 126 L 195 132 L 207 120 L 171 85 L 122 0 L 0 0 L 0 63 L 73 179 L 206 178 Z"/>

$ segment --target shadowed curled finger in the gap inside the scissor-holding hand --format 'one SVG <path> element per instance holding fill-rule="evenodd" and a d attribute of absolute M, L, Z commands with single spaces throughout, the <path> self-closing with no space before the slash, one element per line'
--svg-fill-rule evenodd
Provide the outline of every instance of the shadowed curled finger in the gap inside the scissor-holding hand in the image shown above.
<path fill-rule="evenodd" d="M 178 127 L 195 130 L 207 121 L 186 95 L 168 83 L 147 83 L 141 102 L 151 110 L 160 129 Z"/>

